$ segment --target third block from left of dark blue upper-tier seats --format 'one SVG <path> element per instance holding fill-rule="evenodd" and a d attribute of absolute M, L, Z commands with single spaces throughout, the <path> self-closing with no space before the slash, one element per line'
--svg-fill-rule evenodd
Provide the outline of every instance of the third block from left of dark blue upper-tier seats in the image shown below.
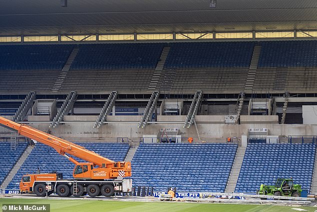
<path fill-rule="evenodd" d="M 249 67 L 253 46 L 253 42 L 172 43 L 165 67 Z"/>

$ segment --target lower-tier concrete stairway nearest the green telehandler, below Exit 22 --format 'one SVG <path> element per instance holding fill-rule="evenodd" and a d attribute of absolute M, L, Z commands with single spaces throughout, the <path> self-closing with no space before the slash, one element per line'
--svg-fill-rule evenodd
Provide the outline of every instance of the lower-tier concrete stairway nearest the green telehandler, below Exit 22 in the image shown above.
<path fill-rule="evenodd" d="M 233 193 L 235 190 L 236 182 L 240 174 L 243 158 L 245 155 L 245 150 L 246 150 L 246 147 L 242 147 L 242 146 L 237 147 L 233 164 L 232 164 L 230 174 L 228 177 L 228 181 L 224 189 L 224 192 L 226 193 Z"/>

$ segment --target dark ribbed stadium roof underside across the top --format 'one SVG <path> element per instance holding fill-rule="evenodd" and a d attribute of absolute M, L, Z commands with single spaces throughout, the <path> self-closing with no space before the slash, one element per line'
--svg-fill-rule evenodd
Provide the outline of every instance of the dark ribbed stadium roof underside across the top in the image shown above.
<path fill-rule="evenodd" d="M 315 0 L 2 0 L 0 36 L 317 30 Z"/>

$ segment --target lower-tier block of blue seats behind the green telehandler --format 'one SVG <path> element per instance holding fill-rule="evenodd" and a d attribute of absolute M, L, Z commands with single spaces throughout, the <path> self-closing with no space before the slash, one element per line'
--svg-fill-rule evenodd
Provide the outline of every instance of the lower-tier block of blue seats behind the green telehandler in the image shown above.
<path fill-rule="evenodd" d="M 256 192 L 260 184 L 292 177 L 309 192 L 315 144 L 248 144 L 236 192 Z"/>

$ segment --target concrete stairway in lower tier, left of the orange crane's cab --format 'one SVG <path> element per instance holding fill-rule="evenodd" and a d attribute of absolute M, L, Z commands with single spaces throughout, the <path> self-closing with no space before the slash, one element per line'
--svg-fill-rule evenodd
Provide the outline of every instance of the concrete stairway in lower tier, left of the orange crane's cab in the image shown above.
<path fill-rule="evenodd" d="M 9 171 L 7 176 L 2 181 L 2 184 L 0 185 L 0 189 L 5 189 L 8 186 L 8 184 L 11 182 L 11 180 L 13 179 L 13 177 L 15 176 L 15 174 L 17 173 L 19 168 L 22 166 L 22 164 L 24 163 L 24 161 L 26 160 L 28 155 L 33 150 L 33 148 L 34 148 L 34 146 L 27 146 L 25 148 L 25 150 L 23 151 L 21 156 L 17 159 L 17 161 L 14 164 L 14 166 L 12 167 L 12 169 Z"/>

